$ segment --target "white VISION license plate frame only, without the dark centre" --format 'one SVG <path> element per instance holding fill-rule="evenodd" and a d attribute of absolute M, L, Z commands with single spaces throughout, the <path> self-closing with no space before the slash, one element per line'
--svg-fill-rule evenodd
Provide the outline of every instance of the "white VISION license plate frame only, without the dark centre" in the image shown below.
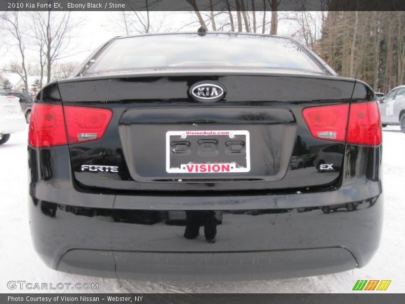
<path fill-rule="evenodd" d="M 236 162 L 202 162 L 186 163 L 178 167 L 171 165 L 171 136 L 180 136 L 187 140 L 189 136 L 198 136 L 198 138 L 221 138 L 223 140 L 232 140 L 245 136 L 245 160 L 246 166 L 240 166 Z M 225 137 L 226 136 L 226 137 Z M 224 147 L 225 149 L 225 147 Z M 230 157 L 229 157 L 230 158 Z M 201 167 L 201 165 L 204 165 Z M 192 168 L 192 170 L 190 170 Z M 204 170 L 203 170 L 204 169 Z M 218 169 L 218 170 L 217 170 Z M 250 133 L 248 130 L 185 130 L 185 131 L 167 131 L 166 132 L 166 172 L 183 174 L 218 174 L 218 173 L 246 173 L 251 170 L 250 160 Z"/>

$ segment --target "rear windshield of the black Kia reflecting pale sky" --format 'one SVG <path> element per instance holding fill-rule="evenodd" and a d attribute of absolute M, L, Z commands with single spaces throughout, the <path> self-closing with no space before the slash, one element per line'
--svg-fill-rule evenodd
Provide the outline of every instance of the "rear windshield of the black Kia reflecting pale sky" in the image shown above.
<path fill-rule="evenodd" d="M 294 42 L 244 34 L 167 34 L 115 40 L 86 73 L 137 69 L 247 67 L 323 72 Z"/>

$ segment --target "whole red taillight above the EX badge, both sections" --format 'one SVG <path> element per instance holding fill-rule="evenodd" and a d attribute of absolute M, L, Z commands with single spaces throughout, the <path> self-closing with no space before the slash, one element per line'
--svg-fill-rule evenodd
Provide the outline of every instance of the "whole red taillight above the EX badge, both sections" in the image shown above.
<path fill-rule="evenodd" d="M 308 107 L 302 115 L 315 138 L 364 145 L 382 142 L 380 112 L 375 101 L 353 103 L 350 107 L 348 104 Z"/>

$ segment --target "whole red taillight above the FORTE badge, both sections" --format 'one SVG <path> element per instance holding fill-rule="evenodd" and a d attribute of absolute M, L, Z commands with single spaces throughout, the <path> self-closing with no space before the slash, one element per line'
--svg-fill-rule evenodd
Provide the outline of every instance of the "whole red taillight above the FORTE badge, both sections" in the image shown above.
<path fill-rule="evenodd" d="M 111 117 L 109 109 L 35 103 L 28 142 L 34 148 L 43 148 L 100 140 Z"/>

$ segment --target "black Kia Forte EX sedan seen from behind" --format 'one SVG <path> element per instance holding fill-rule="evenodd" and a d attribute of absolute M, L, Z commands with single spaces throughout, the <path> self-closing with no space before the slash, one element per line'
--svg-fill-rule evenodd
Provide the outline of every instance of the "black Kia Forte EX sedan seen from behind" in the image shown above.
<path fill-rule="evenodd" d="M 285 37 L 116 37 L 37 95 L 29 217 L 51 268 L 145 280 L 366 265 L 383 218 L 374 92 Z"/>

